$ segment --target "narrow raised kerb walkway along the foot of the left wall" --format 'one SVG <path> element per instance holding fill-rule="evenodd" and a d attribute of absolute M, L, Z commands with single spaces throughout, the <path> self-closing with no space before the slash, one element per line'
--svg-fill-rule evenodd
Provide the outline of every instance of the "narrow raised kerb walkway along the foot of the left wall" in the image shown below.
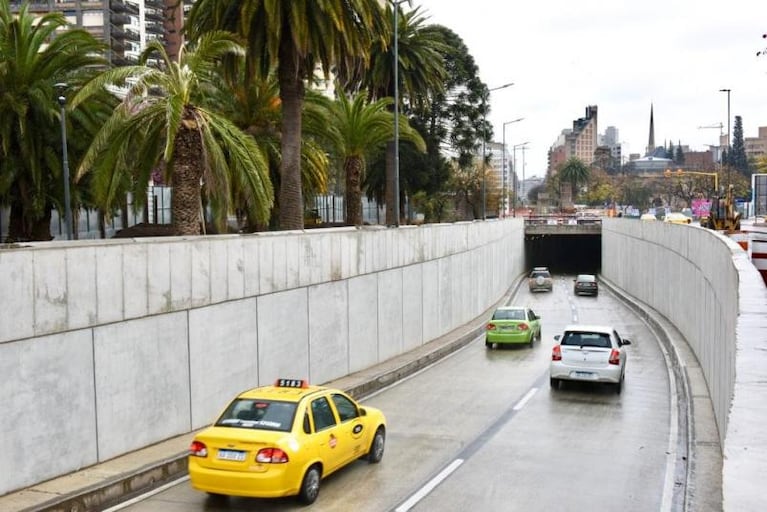
<path fill-rule="evenodd" d="M 516 289 L 515 287 L 513 289 Z M 498 304 L 508 300 L 503 297 Z M 447 335 L 372 368 L 326 383 L 355 398 L 382 389 L 471 343 L 484 332 L 496 306 Z M 75 473 L 0 496 L 3 512 L 90 512 L 151 491 L 187 473 L 194 432 L 84 468 Z"/>

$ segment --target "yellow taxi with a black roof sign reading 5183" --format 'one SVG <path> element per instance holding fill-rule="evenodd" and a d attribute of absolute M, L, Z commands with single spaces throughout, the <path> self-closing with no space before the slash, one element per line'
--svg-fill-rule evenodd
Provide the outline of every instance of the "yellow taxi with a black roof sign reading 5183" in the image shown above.
<path fill-rule="evenodd" d="M 238 395 L 189 450 L 192 487 L 214 496 L 298 496 L 360 458 L 380 462 L 386 419 L 343 391 L 278 379 Z"/>

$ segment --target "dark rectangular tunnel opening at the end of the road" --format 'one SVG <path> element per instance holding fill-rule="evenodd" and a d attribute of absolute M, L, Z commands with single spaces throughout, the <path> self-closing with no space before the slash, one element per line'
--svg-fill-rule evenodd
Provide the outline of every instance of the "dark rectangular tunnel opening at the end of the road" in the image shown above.
<path fill-rule="evenodd" d="M 602 235 L 525 235 L 525 268 L 549 267 L 555 274 L 599 274 Z"/>

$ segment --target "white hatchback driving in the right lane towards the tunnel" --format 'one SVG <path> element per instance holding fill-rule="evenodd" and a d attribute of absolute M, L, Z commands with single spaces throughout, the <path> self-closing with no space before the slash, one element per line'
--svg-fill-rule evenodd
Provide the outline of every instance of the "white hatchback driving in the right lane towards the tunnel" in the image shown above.
<path fill-rule="evenodd" d="M 564 380 L 606 382 L 620 393 L 626 374 L 625 346 L 631 341 L 621 338 L 607 325 L 568 325 L 563 334 L 554 336 L 557 344 L 551 350 L 549 381 L 558 389 Z"/>

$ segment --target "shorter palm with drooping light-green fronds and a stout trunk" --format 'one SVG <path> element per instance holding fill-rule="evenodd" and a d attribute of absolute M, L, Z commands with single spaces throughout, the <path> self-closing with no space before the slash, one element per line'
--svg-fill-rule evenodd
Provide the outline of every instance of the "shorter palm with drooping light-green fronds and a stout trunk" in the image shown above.
<path fill-rule="evenodd" d="M 200 234 L 201 183 L 219 213 L 228 213 L 233 191 L 246 191 L 255 218 L 266 222 L 273 192 L 264 156 L 253 137 L 206 105 L 210 89 L 219 83 L 214 64 L 224 55 L 243 53 L 235 37 L 224 32 L 205 34 L 191 49 L 182 46 L 178 61 L 152 41 L 139 65 L 112 69 L 91 80 L 73 105 L 107 84 L 133 82 L 76 177 L 94 172 L 108 205 L 116 200 L 117 184 L 126 175 L 141 190 L 162 162 L 165 179 L 173 186 L 171 214 L 177 234 Z M 150 59 L 157 59 L 160 68 L 148 66 Z M 219 226 L 224 220 L 218 217 Z"/>

